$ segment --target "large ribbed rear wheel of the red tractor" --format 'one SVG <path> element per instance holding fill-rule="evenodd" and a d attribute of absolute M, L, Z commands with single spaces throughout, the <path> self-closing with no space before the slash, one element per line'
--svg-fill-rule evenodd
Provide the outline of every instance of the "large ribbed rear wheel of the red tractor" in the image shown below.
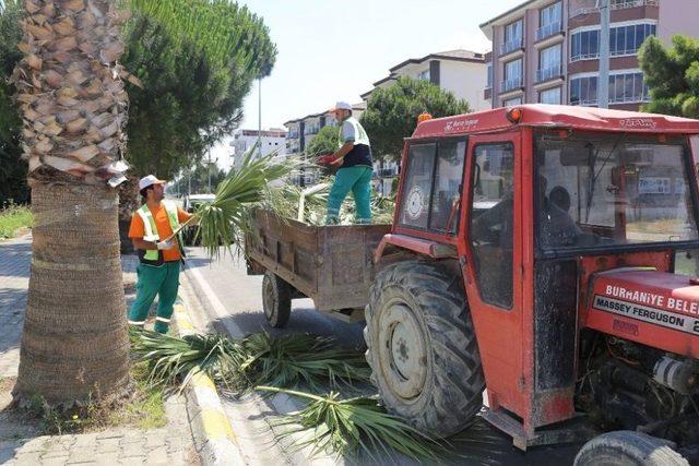
<path fill-rule="evenodd" d="M 461 277 L 433 263 L 390 265 L 371 286 L 366 323 L 372 382 L 391 413 L 436 437 L 473 421 L 485 382 Z"/>

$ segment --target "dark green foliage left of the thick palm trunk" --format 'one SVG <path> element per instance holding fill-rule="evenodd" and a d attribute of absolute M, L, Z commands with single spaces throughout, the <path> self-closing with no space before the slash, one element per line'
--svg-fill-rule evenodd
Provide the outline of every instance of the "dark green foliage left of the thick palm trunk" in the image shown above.
<path fill-rule="evenodd" d="M 20 159 L 22 120 L 12 101 L 14 87 L 7 81 L 22 58 L 16 47 L 22 37 L 22 14 L 20 2 L 0 1 L 0 205 L 10 200 L 24 203 L 29 195 L 26 163 Z"/>

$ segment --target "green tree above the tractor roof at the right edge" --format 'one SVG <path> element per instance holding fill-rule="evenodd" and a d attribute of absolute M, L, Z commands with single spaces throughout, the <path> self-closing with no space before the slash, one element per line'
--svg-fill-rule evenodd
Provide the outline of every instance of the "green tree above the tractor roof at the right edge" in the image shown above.
<path fill-rule="evenodd" d="M 699 118 L 699 39 L 674 36 L 666 48 L 649 37 L 638 58 L 651 101 L 644 111 Z"/>

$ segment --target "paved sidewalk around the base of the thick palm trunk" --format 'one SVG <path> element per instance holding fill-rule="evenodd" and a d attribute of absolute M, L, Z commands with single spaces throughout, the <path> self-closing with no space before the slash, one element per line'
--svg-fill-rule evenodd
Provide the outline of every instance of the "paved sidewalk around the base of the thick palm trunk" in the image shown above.
<path fill-rule="evenodd" d="M 36 429 L 7 411 L 20 363 L 20 338 L 29 280 L 29 237 L 0 242 L 0 464 L 9 465 L 190 465 L 193 447 L 183 397 L 165 403 L 168 425 L 140 430 L 110 428 L 74 435 L 37 437 Z M 135 282 L 135 258 L 122 260 L 125 283 Z M 133 299 L 127 288 L 127 301 Z"/>

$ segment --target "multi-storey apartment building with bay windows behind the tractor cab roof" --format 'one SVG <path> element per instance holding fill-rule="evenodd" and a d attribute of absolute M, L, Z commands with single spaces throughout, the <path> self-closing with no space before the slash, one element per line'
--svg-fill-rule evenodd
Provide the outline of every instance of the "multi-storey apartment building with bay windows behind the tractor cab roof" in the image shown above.
<path fill-rule="evenodd" d="M 654 35 L 699 35 L 697 0 L 609 0 L 609 108 L 649 100 L 638 49 Z M 524 103 L 597 105 L 600 0 L 529 0 L 481 25 L 493 40 L 484 98 L 493 107 Z"/>

